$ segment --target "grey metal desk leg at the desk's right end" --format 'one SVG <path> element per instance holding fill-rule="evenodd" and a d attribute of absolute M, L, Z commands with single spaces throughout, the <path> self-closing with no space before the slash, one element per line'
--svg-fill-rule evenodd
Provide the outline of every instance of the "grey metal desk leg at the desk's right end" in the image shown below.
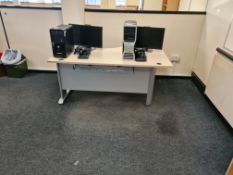
<path fill-rule="evenodd" d="M 154 83 L 155 83 L 155 70 L 150 69 L 150 75 L 149 75 L 149 82 L 148 82 L 148 91 L 147 91 L 147 98 L 146 98 L 146 105 L 149 106 L 152 103 L 153 100 L 153 94 L 154 94 Z"/>

